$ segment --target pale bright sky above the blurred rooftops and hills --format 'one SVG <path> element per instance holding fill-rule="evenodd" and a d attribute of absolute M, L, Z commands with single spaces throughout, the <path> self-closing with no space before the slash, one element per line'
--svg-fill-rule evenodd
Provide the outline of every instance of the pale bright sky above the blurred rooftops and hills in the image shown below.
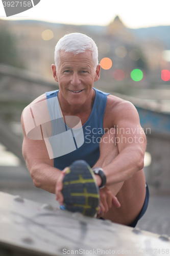
<path fill-rule="evenodd" d="M 4 1 L 0 0 L 0 18 L 5 19 L 107 26 L 118 15 L 129 28 L 170 26 L 169 0 L 41 0 L 35 7 L 8 18 Z"/>

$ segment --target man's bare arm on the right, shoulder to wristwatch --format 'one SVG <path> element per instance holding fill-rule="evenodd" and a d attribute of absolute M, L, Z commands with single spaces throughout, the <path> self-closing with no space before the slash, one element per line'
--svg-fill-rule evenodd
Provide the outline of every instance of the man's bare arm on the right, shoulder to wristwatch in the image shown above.
<path fill-rule="evenodd" d="M 126 181 L 143 168 L 147 144 L 137 110 L 132 103 L 120 103 L 114 109 L 114 116 L 113 127 L 116 127 L 119 154 L 103 168 L 107 185 Z"/>

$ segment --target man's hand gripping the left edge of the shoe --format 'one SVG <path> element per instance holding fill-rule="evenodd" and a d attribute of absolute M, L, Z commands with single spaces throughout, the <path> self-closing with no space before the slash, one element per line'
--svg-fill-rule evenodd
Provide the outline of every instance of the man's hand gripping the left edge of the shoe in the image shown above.
<path fill-rule="evenodd" d="M 61 193 L 61 190 L 63 189 L 62 181 L 63 181 L 64 175 L 66 174 L 68 168 L 69 167 L 65 167 L 62 170 L 62 172 L 56 182 L 56 200 L 59 202 L 60 205 L 63 205 L 63 201 L 64 201 L 64 197 Z"/>

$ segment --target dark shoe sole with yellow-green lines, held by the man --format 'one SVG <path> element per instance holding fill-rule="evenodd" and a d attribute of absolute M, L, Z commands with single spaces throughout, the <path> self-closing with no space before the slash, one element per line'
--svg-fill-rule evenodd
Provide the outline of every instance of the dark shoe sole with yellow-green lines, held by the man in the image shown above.
<path fill-rule="evenodd" d="M 94 174 L 84 160 L 73 162 L 63 179 L 64 206 L 72 212 L 94 217 L 98 211 L 100 194 Z"/>

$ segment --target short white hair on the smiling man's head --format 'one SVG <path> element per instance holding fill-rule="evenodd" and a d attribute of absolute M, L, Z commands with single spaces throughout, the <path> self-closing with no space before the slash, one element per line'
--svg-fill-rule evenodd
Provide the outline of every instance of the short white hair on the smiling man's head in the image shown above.
<path fill-rule="evenodd" d="M 72 52 L 76 55 L 78 53 L 83 53 L 86 50 L 91 51 L 93 65 L 96 69 L 98 65 L 98 47 L 93 39 L 81 33 L 64 35 L 62 38 L 60 38 L 55 47 L 54 60 L 56 67 L 58 67 L 60 62 L 60 51 Z"/>

